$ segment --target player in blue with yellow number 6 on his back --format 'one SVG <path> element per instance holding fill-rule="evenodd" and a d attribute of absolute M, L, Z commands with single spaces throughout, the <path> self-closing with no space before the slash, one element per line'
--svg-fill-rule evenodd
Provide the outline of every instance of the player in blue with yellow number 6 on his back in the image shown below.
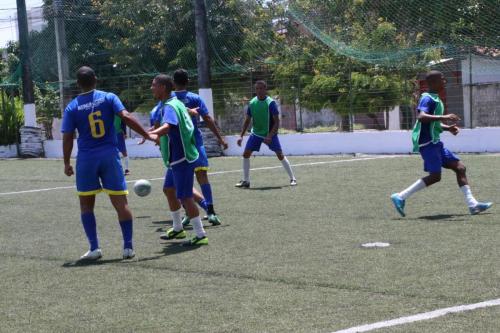
<path fill-rule="evenodd" d="M 127 184 L 117 149 L 114 116 L 120 117 L 144 138 L 152 138 L 125 110 L 115 94 L 95 89 L 97 78 L 90 67 L 81 67 L 76 78 L 82 93 L 64 110 L 61 131 L 64 173 L 71 176 L 75 171 L 70 157 L 75 130 L 78 130 L 76 188 L 80 198 L 83 229 L 90 244 L 90 249 L 80 259 L 97 260 L 102 257 L 94 215 L 95 196 L 101 191 L 109 194 L 118 214 L 123 235 L 123 259 L 131 259 L 135 256 L 132 213 L 127 203 Z"/>

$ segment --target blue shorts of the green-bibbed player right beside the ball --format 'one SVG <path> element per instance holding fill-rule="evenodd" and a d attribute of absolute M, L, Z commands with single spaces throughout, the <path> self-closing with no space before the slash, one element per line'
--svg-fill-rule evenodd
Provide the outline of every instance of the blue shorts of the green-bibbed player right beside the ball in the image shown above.
<path fill-rule="evenodd" d="M 187 199 L 193 197 L 194 169 L 196 163 L 184 161 L 167 169 L 163 188 L 175 187 L 177 199 Z"/>

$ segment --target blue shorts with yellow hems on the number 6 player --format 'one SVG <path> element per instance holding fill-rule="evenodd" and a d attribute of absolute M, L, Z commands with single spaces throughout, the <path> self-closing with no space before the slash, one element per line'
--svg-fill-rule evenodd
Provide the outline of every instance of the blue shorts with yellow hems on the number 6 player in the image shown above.
<path fill-rule="evenodd" d="M 76 160 L 76 189 L 78 195 L 128 194 L 118 152 L 97 159 Z"/>

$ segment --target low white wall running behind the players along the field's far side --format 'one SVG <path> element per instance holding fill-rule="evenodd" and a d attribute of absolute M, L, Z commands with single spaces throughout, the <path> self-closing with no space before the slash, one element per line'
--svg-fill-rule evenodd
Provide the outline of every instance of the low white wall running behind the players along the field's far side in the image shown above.
<path fill-rule="evenodd" d="M 229 148 L 225 155 L 239 156 L 243 147 L 236 145 L 237 136 L 226 137 Z M 286 155 L 328 154 L 408 154 L 412 150 L 410 131 L 358 131 L 354 133 L 310 133 L 280 135 L 281 146 Z M 443 133 L 442 141 L 450 150 L 460 153 L 500 152 L 500 127 L 463 129 L 459 135 Z M 151 142 L 137 145 L 137 140 L 128 139 L 127 148 L 131 157 L 160 157 L 158 147 Z M 76 143 L 75 143 L 76 150 Z M 62 157 L 60 140 L 46 141 L 47 157 Z M 273 155 L 262 145 L 258 155 Z"/>

